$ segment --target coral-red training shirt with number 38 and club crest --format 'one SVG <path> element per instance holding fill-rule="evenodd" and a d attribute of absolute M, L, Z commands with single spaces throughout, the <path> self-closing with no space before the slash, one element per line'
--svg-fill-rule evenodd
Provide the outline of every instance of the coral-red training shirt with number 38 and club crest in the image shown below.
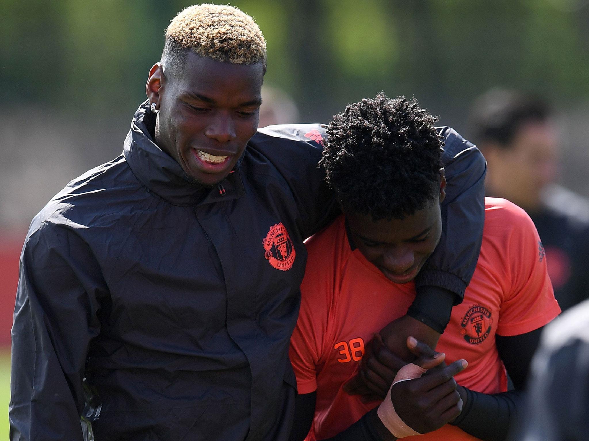
<path fill-rule="evenodd" d="M 337 435 L 378 402 L 362 403 L 342 386 L 352 378 L 364 345 L 391 320 L 405 315 L 415 298 L 413 282 L 387 279 L 358 249 L 352 251 L 344 217 L 307 240 L 309 259 L 290 359 L 299 393 L 317 392 L 308 441 Z M 505 199 L 485 198 L 485 226 L 477 268 L 452 309 L 437 350 L 446 362 L 464 358 L 468 368 L 455 376 L 471 390 L 507 390 L 495 335 L 531 332 L 554 319 L 560 308 L 548 278 L 544 247 L 534 223 Z M 412 436 L 414 441 L 476 440 L 456 426 Z"/>

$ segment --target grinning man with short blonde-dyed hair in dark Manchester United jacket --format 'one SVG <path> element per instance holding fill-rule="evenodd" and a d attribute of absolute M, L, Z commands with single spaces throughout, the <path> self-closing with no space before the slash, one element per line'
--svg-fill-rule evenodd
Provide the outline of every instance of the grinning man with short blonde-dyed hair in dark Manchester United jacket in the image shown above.
<path fill-rule="evenodd" d="M 303 240 L 338 209 L 317 168 L 322 126 L 256 133 L 265 71 L 250 16 L 184 9 L 123 153 L 35 216 L 12 328 L 13 441 L 288 439 Z M 472 275 L 484 161 L 465 152 L 446 167 L 461 199 L 449 222 L 468 203 L 478 213 L 452 238 L 462 260 L 434 253 L 434 288 L 393 323 L 393 347 L 408 333 L 435 343 L 432 297 L 449 315 Z"/>

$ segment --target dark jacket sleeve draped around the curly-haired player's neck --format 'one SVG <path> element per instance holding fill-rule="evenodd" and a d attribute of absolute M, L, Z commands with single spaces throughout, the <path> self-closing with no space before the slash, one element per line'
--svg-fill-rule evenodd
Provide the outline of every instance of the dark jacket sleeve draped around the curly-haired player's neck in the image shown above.
<path fill-rule="evenodd" d="M 442 162 L 446 198 L 442 202 L 442 237 L 415 280 L 415 286 L 436 286 L 462 302 L 477 266 L 485 222 L 487 163 L 476 146 L 453 129 L 439 129 L 445 139 Z M 435 313 L 430 315 L 435 316 Z"/>

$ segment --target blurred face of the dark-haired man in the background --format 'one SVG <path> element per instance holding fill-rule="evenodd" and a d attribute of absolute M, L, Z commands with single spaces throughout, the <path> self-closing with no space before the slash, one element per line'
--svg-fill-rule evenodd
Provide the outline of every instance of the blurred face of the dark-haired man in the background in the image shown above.
<path fill-rule="evenodd" d="M 551 122 L 528 122 L 509 145 L 483 145 L 489 193 L 529 211 L 537 209 L 542 189 L 557 175 L 557 135 Z"/>

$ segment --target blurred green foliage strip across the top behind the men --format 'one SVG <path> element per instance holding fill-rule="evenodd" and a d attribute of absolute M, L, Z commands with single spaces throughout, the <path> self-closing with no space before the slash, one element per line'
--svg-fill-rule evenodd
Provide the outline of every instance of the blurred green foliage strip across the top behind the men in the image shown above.
<path fill-rule="evenodd" d="M 462 121 L 494 85 L 589 95 L 589 8 L 575 0 L 236 0 L 266 35 L 266 82 L 325 121 L 384 90 Z M 143 101 L 164 29 L 187 1 L 2 0 L 0 101 L 118 114 Z"/>

